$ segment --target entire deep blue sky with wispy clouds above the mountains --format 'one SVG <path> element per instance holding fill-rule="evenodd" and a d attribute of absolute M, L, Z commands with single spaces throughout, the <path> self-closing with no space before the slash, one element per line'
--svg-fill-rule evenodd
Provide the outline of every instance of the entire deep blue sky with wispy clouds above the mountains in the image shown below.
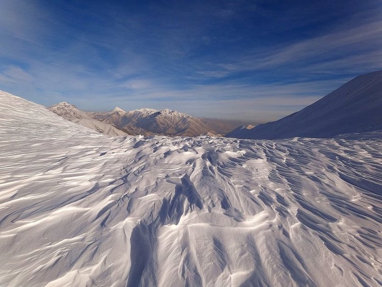
<path fill-rule="evenodd" d="M 0 90 L 278 119 L 382 69 L 382 2 L 0 0 Z"/>

